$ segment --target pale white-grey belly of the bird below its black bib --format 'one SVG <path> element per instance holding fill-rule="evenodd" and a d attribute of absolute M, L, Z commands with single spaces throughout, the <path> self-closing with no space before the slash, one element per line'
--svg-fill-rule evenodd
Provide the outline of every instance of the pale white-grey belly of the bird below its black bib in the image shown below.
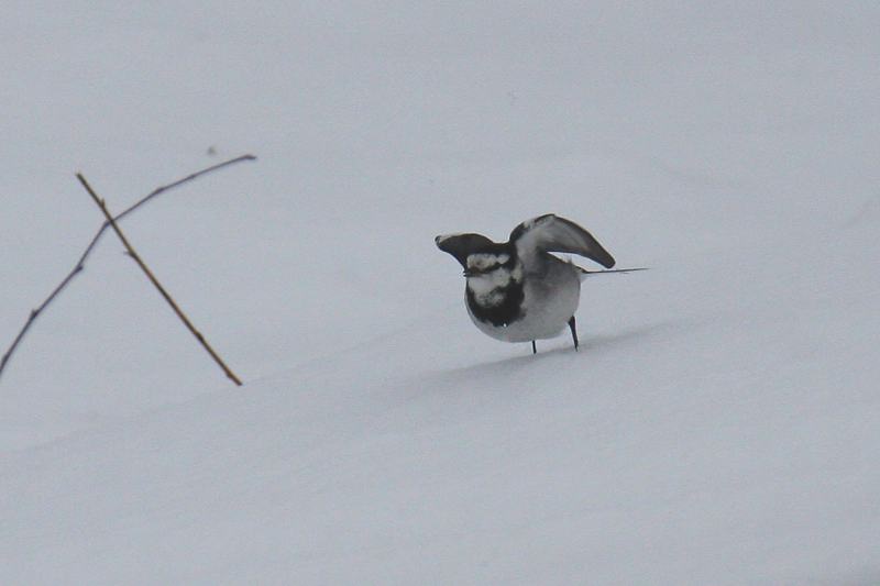
<path fill-rule="evenodd" d="M 560 266 L 561 265 L 561 266 Z M 531 342 L 556 338 L 569 323 L 581 300 L 581 279 L 570 265 L 554 265 L 544 278 L 526 278 L 522 292 L 525 316 L 508 325 L 493 325 L 468 314 L 480 331 L 503 342 Z"/>

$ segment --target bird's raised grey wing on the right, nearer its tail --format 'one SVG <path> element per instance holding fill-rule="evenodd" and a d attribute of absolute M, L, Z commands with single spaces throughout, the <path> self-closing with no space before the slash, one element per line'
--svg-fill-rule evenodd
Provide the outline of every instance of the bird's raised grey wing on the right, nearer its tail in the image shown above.
<path fill-rule="evenodd" d="M 524 259 L 536 252 L 563 252 L 586 256 L 605 268 L 614 266 L 614 257 L 590 232 L 552 213 L 526 220 L 516 226 L 510 232 L 510 242 Z"/>

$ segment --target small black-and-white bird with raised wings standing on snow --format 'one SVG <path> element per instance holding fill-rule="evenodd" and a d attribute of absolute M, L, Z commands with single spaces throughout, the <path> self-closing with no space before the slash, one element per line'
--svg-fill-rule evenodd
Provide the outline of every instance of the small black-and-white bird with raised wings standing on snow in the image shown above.
<path fill-rule="evenodd" d="M 592 273 L 550 253 L 579 254 L 606 268 L 615 263 L 590 232 L 552 213 L 526 220 L 507 242 L 444 234 L 435 243 L 464 268 L 468 314 L 480 331 L 504 342 L 531 342 L 535 354 L 536 340 L 556 338 L 565 324 L 578 350 L 574 312 L 581 279 Z"/>

